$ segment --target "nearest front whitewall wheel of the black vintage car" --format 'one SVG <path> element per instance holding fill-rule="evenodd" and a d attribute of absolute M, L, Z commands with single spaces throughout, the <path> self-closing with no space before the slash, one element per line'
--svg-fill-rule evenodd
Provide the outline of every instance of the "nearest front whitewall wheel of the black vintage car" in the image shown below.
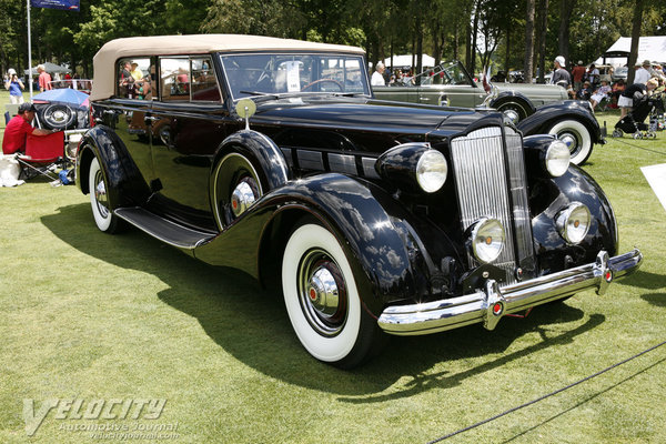
<path fill-rule="evenodd" d="M 361 306 L 352 268 L 335 236 L 317 224 L 291 234 L 282 261 L 282 291 L 292 326 L 307 352 L 353 367 L 376 344 L 376 322 Z"/>

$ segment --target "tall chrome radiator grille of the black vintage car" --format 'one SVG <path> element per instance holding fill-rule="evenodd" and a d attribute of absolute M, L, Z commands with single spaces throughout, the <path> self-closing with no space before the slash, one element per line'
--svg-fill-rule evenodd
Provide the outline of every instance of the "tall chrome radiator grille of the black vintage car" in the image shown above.
<path fill-rule="evenodd" d="M 516 268 L 532 274 L 534 249 L 522 138 L 511 128 L 504 131 L 506 151 L 502 129 L 488 127 L 453 139 L 451 157 L 463 230 L 481 218 L 502 222 L 506 245 L 493 264 L 506 271 L 505 284 L 511 284 Z M 471 254 L 468 262 L 478 265 Z"/>

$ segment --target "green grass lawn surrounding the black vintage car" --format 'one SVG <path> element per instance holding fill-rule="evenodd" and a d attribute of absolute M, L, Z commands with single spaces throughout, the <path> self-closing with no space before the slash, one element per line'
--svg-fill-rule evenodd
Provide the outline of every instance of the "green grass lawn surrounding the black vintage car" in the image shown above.
<path fill-rule="evenodd" d="M 610 129 L 617 113 L 598 118 Z M 102 424 L 163 427 L 134 442 L 425 443 L 588 376 L 666 341 L 666 211 L 639 171 L 666 163 L 665 141 L 609 138 L 584 167 L 615 208 L 620 251 L 645 255 L 636 274 L 493 332 L 393 337 L 352 372 L 310 357 L 278 289 L 138 230 L 99 232 L 75 186 L 0 189 L 0 442 L 99 442 L 78 428 Z M 666 442 L 665 360 L 663 346 L 446 442 Z M 24 400 L 37 415 L 51 398 L 29 437 Z M 152 420 L 75 418 L 64 404 L 158 398 Z"/>

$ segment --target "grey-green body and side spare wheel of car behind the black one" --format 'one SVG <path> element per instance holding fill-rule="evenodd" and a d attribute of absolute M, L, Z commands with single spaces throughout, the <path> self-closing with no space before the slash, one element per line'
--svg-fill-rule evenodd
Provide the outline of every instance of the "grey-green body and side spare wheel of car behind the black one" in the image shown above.
<path fill-rule="evenodd" d="M 428 69 L 406 82 L 372 87 L 375 98 L 401 102 L 474 108 L 488 105 L 515 122 L 531 115 L 535 107 L 568 99 L 566 90 L 554 84 L 493 83 L 486 92 L 463 64 L 451 61 Z"/>

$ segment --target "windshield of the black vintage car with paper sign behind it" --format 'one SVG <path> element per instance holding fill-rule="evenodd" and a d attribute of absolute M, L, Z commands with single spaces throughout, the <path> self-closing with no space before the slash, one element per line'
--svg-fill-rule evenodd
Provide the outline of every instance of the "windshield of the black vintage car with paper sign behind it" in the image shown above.
<path fill-rule="evenodd" d="M 370 95 L 360 56 L 259 53 L 220 56 L 220 59 L 234 100 L 300 92 Z"/>

